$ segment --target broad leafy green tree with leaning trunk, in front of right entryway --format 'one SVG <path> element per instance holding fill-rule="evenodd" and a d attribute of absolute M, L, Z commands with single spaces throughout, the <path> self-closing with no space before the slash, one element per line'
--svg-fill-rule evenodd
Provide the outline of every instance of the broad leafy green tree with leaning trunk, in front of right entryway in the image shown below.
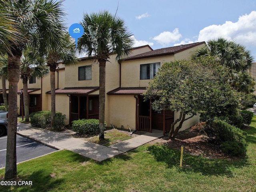
<path fill-rule="evenodd" d="M 236 92 L 226 80 L 225 68 L 212 58 L 173 61 L 161 66 L 143 95 L 145 99 L 154 98 L 154 110 L 180 112 L 168 135 L 174 139 L 183 122 L 194 115 L 206 111 L 228 113 L 230 104 L 237 106 Z"/>

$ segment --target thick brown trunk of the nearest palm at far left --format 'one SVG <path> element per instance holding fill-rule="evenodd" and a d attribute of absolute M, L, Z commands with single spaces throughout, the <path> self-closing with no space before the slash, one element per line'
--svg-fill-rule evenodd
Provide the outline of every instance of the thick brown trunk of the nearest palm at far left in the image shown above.
<path fill-rule="evenodd" d="M 17 176 L 16 166 L 16 131 L 17 131 L 17 94 L 20 79 L 21 50 L 15 50 L 8 56 L 8 81 L 9 81 L 9 109 L 8 109 L 8 134 L 6 147 L 5 179 Z"/>

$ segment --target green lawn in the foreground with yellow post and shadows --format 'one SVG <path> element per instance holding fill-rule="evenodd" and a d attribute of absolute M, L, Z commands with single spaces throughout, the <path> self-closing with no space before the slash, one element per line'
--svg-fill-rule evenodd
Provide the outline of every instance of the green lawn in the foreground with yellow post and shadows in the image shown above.
<path fill-rule="evenodd" d="M 256 116 L 248 132 L 248 157 L 210 160 L 149 144 L 96 162 L 63 150 L 18 164 L 18 178 L 32 186 L 0 186 L 18 192 L 255 192 Z M 0 170 L 0 177 L 4 170 Z"/>

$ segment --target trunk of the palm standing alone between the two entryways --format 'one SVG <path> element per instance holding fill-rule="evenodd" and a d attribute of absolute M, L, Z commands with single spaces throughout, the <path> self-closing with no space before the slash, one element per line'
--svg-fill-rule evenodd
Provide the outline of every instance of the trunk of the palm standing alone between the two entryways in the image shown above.
<path fill-rule="evenodd" d="M 100 66 L 100 93 L 99 93 L 99 124 L 100 140 L 104 140 L 104 120 L 105 120 L 105 82 L 106 82 L 106 61 L 99 60 Z"/>

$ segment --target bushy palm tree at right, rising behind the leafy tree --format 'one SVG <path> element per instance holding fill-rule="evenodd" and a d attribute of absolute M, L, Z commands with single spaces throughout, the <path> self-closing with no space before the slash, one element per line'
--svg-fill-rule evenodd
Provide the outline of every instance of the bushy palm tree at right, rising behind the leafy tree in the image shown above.
<path fill-rule="evenodd" d="M 218 38 L 218 40 L 209 40 L 206 47 L 196 50 L 195 57 L 203 55 L 213 56 L 216 61 L 228 68 L 230 72 L 230 85 L 236 90 L 245 92 L 248 92 L 249 89 L 251 90 L 250 87 L 252 86 L 248 83 L 253 83 L 253 81 L 247 81 L 245 86 L 245 82 L 242 79 L 239 80 L 239 78 L 243 76 L 241 73 L 249 70 L 254 60 L 250 55 L 250 51 L 246 50 L 244 46 L 232 40 Z M 248 90 L 246 90 L 246 88 L 248 88 Z"/>

